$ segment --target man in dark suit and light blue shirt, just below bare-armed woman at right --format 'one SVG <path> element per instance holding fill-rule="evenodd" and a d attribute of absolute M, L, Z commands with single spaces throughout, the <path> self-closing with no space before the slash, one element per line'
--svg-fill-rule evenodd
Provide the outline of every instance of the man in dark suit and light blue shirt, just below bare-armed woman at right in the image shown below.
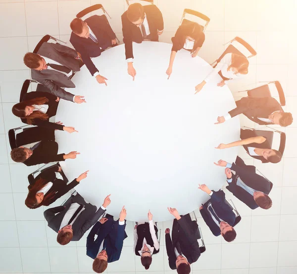
<path fill-rule="evenodd" d="M 219 160 L 215 163 L 219 166 L 226 166 L 227 190 L 235 197 L 244 202 L 249 208 L 261 207 L 269 209 L 272 200 L 268 196 L 271 191 L 271 183 L 256 173 L 253 165 L 246 165 L 242 158 L 237 157 L 235 163 L 227 163 Z M 233 170 L 236 174 L 231 172 Z"/>

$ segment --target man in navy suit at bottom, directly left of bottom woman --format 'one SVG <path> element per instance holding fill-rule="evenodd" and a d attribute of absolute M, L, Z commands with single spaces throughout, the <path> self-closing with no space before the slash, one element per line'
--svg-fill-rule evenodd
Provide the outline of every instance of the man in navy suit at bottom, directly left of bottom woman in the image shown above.
<path fill-rule="evenodd" d="M 107 263 L 118 261 L 121 256 L 125 232 L 127 212 L 123 206 L 117 221 L 113 216 L 106 215 L 90 231 L 87 237 L 87 255 L 94 259 L 93 270 L 102 273 L 107 268 Z M 95 235 L 98 235 L 95 239 Z"/>

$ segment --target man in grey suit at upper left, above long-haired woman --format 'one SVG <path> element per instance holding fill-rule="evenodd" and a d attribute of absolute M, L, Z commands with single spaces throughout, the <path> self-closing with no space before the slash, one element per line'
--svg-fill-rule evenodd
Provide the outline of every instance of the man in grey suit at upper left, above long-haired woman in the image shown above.
<path fill-rule="evenodd" d="M 43 84 L 50 93 L 67 101 L 81 104 L 84 96 L 73 95 L 61 87 L 75 87 L 70 77 L 80 71 L 80 56 L 72 48 L 59 43 L 44 42 L 37 54 L 28 52 L 24 64 L 31 69 L 32 79 Z"/>

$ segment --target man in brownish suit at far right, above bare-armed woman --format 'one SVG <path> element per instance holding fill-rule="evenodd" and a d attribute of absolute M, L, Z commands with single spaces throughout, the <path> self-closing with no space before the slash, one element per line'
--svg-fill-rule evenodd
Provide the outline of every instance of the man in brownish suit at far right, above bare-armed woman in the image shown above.
<path fill-rule="evenodd" d="M 292 124 L 293 117 L 290 112 L 284 112 L 279 102 L 272 97 L 243 97 L 236 101 L 236 108 L 229 111 L 227 115 L 218 117 L 218 122 L 224 121 L 243 113 L 247 118 L 257 124 L 279 124 L 288 126 Z"/>

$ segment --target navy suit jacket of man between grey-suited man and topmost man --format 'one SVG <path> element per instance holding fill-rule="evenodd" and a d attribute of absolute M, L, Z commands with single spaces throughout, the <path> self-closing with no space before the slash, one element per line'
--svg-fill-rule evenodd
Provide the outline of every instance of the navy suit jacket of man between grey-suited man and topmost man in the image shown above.
<path fill-rule="evenodd" d="M 111 40 L 115 39 L 115 33 L 111 29 L 105 15 L 93 15 L 84 22 L 91 28 L 98 39 L 98 43 L 95 43 L 90 37 L 88 39 L 79 37 L 73 32 L 70 36 L 70 43 L 81 54 L 83 62 L 90 73 L 94 75 L 99 70 L 92 62 L 91 57 L 100 56 L 103 50 L 111 46 Z"/>

